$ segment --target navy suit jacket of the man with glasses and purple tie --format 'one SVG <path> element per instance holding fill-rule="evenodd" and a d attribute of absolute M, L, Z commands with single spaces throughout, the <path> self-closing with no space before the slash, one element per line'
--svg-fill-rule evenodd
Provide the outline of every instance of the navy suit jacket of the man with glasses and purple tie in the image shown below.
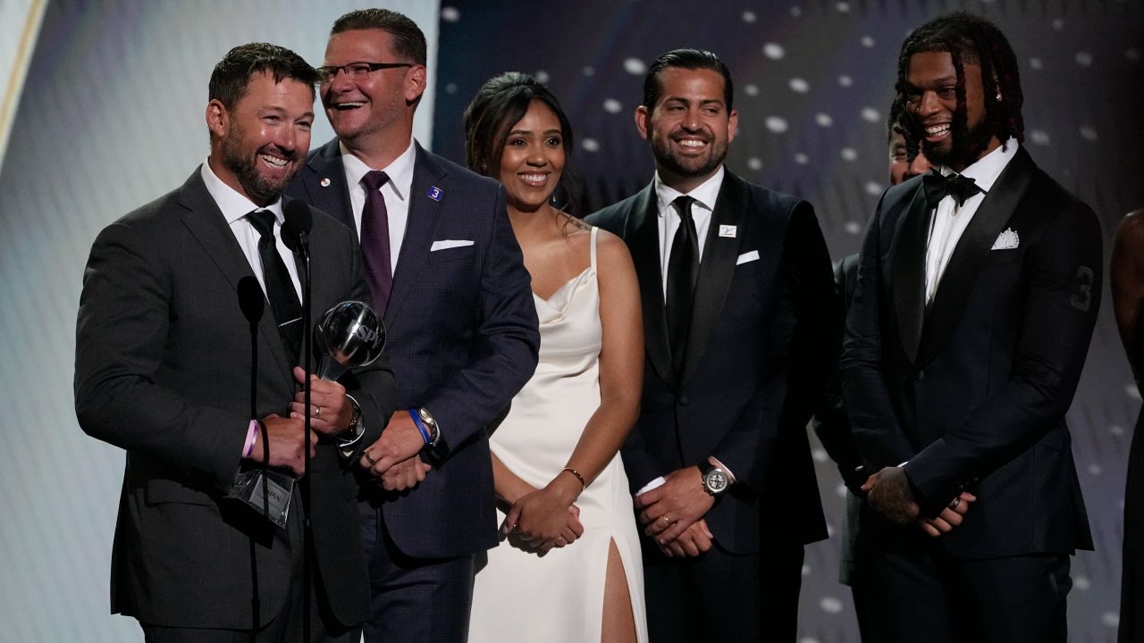
<path fill-rule="evenodd" d="M 356 230 L 336 138 L 310 152 L 288 192 Z M 537 367 L 537 309 L 498 182 L 418 145 L 410 199 L 387 350 L 400 407 L 428 408 L 447 454 L 412 492 L 372 500 L 403 553 L 458 556 L 496 545 L 486 424 Z M 438 240 L 472 244 L 431 251 Z"/>

